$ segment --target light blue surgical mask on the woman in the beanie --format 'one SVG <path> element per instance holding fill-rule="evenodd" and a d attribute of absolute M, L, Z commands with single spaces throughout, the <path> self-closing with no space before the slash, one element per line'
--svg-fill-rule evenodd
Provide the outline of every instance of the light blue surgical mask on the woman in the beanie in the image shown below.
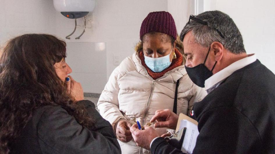
<path fill-rule="evenodd" d="M 171 52 L 173 50 L 173 46 L 171 49 Z M 170 54 L 171 54 L 170 52 Z M 144 53 L 143 53 L 144 54 Z M 166 68 L 168 68 L 171 65 L 171 61 L 170 61 L 170 54 L 163 56 L 163 57 L 159 57 L 159 58 L 152 58 L 152 57 L 148 57 L 145 56 L 144 54 L 144 60 L 146 65 L 153 71 L 153 72 L 162 72 L 163 70 L 165 70 Z"/>

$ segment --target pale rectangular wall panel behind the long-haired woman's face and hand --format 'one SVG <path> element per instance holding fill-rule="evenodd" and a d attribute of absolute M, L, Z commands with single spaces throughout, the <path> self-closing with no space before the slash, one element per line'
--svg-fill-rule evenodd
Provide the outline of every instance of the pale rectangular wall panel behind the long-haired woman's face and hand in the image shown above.
<path fill-rule="evenodd" d="M 84 92 L 102 92 L 107 80 L 105 43 L 68 42 L 66 62 Z"/>

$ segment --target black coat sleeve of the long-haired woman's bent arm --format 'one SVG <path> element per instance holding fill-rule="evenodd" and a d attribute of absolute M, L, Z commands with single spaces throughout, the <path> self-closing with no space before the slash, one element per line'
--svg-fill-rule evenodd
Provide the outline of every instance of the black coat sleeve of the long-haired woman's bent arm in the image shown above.
<path fill-rule="evenodd" d="M 81 101 L 88 114 L 95 119 L 89 130 L 61 107 L 47 109 L 38 123 L 38 137 L 43 153 L 102 154 L 121 153 L 111 124 L 104 120 L 90 101 Z"/>

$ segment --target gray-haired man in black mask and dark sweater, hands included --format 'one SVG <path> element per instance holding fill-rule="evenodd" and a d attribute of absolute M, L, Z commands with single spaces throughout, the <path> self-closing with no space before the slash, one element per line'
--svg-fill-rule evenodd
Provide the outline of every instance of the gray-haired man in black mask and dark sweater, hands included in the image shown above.
<path fill-rule="evenodd" d="M 275 153 L 275 75 L 246 54 L 233 20 L 220 11 L 191 15 L 180 39 L 190 79 L 208 93 L 191 111 L 199 131 L 193 154 Z M 158 110 L 153 121 L 156 128 L 175 129 L 178 116 Z M 182 153 L 150 127 L 130 130 L 153 154 Z"/>

